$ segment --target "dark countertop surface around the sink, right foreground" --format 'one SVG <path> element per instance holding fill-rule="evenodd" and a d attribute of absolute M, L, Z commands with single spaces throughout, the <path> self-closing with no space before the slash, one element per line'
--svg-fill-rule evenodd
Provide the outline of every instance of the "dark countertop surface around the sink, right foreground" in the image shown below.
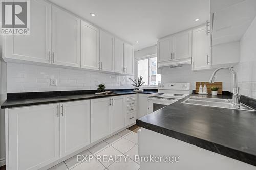
<path fill-rule="evenodd" d="M 187 98 L 136 120 L 137 125 L 256 166 L 256 112 L 182 104 Z"/>

